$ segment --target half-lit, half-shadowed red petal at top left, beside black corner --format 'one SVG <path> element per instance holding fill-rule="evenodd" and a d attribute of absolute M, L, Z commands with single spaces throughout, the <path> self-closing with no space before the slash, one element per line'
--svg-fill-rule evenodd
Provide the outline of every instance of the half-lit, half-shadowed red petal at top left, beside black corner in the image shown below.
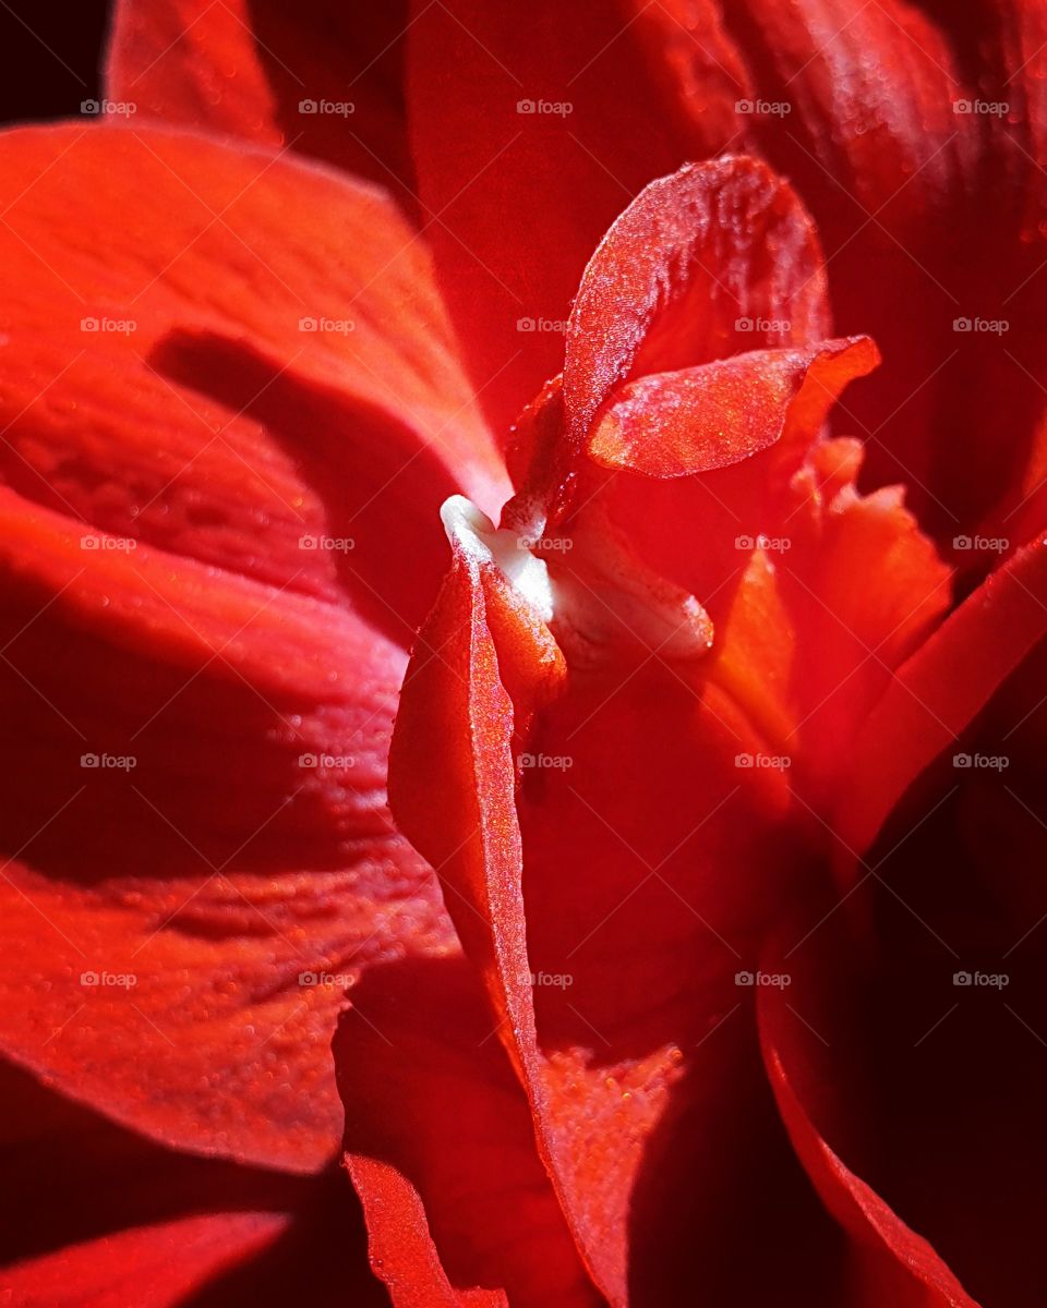
<path fill-rule="evenodd" d="M 293 148 L 410 200 L 406 21 L 403 3 L 313 0 L 292 13 L 247 0 L 119 0 L 106 95 L 141 116 Z"/>

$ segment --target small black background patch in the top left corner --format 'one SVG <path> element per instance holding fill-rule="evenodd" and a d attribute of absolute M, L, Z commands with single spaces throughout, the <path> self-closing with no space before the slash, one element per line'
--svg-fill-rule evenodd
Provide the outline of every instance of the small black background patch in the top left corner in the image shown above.
<path fill-rule="evenodd" d="M 109 0 L 0 0 L 0 123 L 80 114 L 97 99 Z"/>

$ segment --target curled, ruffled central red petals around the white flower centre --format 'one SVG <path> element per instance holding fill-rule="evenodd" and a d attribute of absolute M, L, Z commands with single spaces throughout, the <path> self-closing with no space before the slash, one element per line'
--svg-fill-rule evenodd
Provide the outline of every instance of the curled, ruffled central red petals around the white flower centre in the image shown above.
<path fill-rule="evenodd" d="M 751 225 L 726 199 L 704 226 L 691 220 L 696 196 L 753 187 L 780 226 L 750 259 Z M 692 258 L 675 230 L 699 232 L 720 262 Z M 713 1087 L 732 1087 L 732 1120 L 773 1160 L 768 1203 L 802 1226 L 773 1282 L 750 1269 L 746 1292 L 773 1283 L 809 1301 L 819 1248 L 817 1292 L 869 1301 L 827 1252 L 840 1214 L 819 1207 L 790 1152 L 747 1036 L 746 977 L 802 869 L 825 857 L 811 816 L 836 734 L 944 611 L 949 573 L 896 492 L 857 494 L 853 442 L 822 437 L 834 395 L 876 362 L 868 341 L 704 362 L 743 309 L 798 305 L 768 331 L 821 331 L 817 260 L 794 196 L 747 160 L 687 167 L 636 200 L 582 279 L 563 386 L 525 417 L 517 458 L 530 466 L 501 527 L 463 501 L 445 509 L 454 562 L 400 700 L 394 812 L 441 869 L 565 1218 L 612 1304 L 664 1301 L 684 1266 L 707 1292 L 737 1292 L 713 1237 L 733 1224 L 707 1219 L 717 1202 L 733 1211 L 741 1184 L 705 1143 Z M 622 437 L 637 390 L 671 386 L 684 416 L 636 405 L 647 428 Z M 741 424 L 758 421 L 754 439 Z M 712 496 L 722 511 L 703 513 L 716 477 L 730 479 Z M 890 577 L 882 595 L 845 586 L 862 552 Z M 830 729 L 821 710 L 842 683 Z"/>

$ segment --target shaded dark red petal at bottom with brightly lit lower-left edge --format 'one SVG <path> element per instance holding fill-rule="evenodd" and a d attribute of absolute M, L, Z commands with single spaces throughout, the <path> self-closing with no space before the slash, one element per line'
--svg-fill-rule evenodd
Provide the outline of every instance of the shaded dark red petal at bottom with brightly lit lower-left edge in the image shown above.
<path fill-rule="evenodd" d="M 461 956 L 374 972 L 335 1057 L 372 1265 L 397 1308 L 593 1308 L 526 1096 Z"/>

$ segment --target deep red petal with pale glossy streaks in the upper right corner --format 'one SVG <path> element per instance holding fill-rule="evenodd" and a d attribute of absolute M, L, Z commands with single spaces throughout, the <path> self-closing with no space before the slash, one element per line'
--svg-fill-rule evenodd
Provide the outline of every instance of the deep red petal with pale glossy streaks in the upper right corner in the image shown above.
<path fill-rule="evenodd" d="M 883 348 L 852 403 L 872 479 L 908 481 L 946 542 L 970 532 L 1025 493 L 1044 408 L 1043 5 L 772 0 L 729 21 L 760 93 L 790 107 L 759 120 L 760 148 L 815 215 L 838 326 Z"/>

